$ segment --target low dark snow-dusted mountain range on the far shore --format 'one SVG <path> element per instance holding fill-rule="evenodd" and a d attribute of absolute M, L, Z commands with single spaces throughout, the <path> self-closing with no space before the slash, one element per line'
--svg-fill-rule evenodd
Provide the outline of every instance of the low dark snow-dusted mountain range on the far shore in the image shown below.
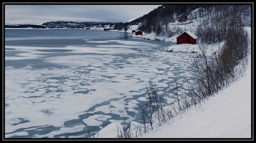
<path fill-rule="evenodd" d="M 116 22 L 73 22 L 73 21 L 56 21 L 45 22 L 41 25 L 33 24 L 12 24 L 5 23 L 5 28 L 86 28 L 95 25 L 114 25 Z"/>

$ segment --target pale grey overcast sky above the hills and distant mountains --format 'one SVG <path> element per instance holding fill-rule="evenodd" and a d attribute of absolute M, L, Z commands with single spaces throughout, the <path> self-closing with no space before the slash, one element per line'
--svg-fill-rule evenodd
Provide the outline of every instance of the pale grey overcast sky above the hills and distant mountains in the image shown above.
<path fill-rule="evenodd" d="M 6 5 L 5 22 L 42 24 L 49 21 L 126 22 L 160 5 Z"/>

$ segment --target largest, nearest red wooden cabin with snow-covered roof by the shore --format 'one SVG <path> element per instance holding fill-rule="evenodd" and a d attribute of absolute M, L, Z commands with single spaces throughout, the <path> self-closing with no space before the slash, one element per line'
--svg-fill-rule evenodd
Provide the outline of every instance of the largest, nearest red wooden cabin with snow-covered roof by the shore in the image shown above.
<path fill-rule="evenodd" d="M 185 31 L 180 36 L 177 36 L 177 45 L 178 44 L 196 44 L 197 36 L 192 34 L 190 31 Z"/>

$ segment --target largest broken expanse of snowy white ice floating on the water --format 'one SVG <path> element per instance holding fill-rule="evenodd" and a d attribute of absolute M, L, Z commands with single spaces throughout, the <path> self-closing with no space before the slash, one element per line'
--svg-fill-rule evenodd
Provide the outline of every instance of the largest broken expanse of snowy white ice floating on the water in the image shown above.
<path fill-rule="evenodd" d="M 147 42 L 108 40 L 124 46 L 146 45 Z M 113 44 L 113 43 L 112 43 Z M 111 44 L 111 45 L 112 45 Z M 20 52 L 26 52 L 27 58 L 43 59 L 54 65 L 65 65 L 65 68 L 51 67 L 35 69 L 31 66 L 23 68 L 6 67 L 6 133 L 17 129 L 35 128 L 35 126 L 61 127 L 60 131 L 52 131 L 46 135 L 34 137 L 54 137 L 73 129 L 82 130 L 85 123 L 95 121 L 96 126 L 110 118 L 102 115 L 99 118 L 81 119 L 84 126 L 65 128 L 64 123 L 79 119 L 85 111 L 109 101 L 108 105 L 99 105 L 90 113 L 102 112 L 117 115 L 110 122 L 122 123 L 132 118 L 129 112 L 136 113 L 138 102 L 145 94 L 147 85 L 159 85 L 161 90 L 169 90 L 169 81 L 176 70 L 185 75 L 189 67 L 189 56 L 180 53 L 137 50 L 131 48 L 93 48 L 85 46 L 68 46 L 64 50 L 72 50 L 68 55 L 42 58 L 50 50 L 45 47 L 6 46 Z M 55 48 L 54 48 L 55 49 Z M 142 53 L 143 52 L 143 53 Z M 28 54 L 29 53 L 29 54 Z M 50 53 L 50 52 L 49 52 Z M 85 55 L 80 55 L 86 53 Z M 189 76 L 189 74 L 187 75 Z M 165 80 L 163 80 L 165 79 Z M 89 113 L 89 112 L 88 112 Z M 111 115 L 112 116 L 112 115 Z M 19 123 L 19 118 L 29 120 Z M 90 124 L 92 125 L 92 124 Z M 73 132 L 73 131 L 72 131 Z"/>

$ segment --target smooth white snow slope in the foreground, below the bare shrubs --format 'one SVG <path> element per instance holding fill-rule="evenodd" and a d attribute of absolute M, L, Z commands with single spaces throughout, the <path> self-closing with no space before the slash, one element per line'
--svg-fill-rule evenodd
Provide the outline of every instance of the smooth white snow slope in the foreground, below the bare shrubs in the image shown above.
<path fill-rule="evenodd" d="M 246 76 L 210 98 L 201 109 L 192 108 L 172 125 L 143 137 L 250 138 L 251 65 Z"/>

